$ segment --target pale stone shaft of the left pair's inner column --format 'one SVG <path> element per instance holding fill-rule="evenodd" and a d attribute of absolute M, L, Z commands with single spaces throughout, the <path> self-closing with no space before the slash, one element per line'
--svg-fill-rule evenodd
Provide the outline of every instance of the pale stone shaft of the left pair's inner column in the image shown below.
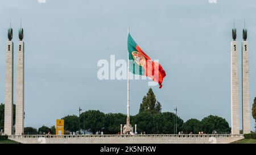
<path fill-rule="evenodd" d="M 16 64 L 16 132 L 22 135 L 24 132 L 24 42 L 18 43 Z"/>

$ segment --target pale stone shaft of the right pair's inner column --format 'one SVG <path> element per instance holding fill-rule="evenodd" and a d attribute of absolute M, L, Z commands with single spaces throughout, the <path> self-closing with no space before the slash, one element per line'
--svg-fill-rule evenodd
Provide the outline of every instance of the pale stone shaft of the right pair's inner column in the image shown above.
<path fill-rule="evenodd" d="M 239 74 L 237 41 L 231 42 L 231 128 L 232 134 L 239 134 Z"/>

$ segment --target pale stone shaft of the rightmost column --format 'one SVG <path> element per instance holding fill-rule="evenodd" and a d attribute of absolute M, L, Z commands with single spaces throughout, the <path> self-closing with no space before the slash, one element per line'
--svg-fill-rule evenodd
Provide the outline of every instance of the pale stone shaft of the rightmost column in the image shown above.
<path fill-rule="evenodd" d="M 242 119 L 243 133 L 251 131 L 250 81 L 249 81 L 249 47 L 248 42 L 242 42 Z"/>

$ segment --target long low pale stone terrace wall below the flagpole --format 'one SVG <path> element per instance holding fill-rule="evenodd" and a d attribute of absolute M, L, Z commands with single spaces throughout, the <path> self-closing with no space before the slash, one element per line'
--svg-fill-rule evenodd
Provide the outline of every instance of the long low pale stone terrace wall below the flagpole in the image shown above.
<path fill-rule="evenodd" d="M 24 144 L 226 144 L 243 135 L 12 135 Z"/>

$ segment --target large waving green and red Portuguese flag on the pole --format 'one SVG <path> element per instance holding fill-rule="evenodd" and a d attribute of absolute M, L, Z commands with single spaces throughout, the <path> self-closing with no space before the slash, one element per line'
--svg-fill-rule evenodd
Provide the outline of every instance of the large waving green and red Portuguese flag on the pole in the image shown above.
<path fill-rule="evenodd" d="M 162 87 L 166 72 L 158 62 L 154 62 L 142 51 L 137 43 L 133 40 L 130 33 L 128 34 L 128 52 L 129 52 L 129 71 L 133 74 L 147 76 L 158 82 L 159 88 Z"/>

